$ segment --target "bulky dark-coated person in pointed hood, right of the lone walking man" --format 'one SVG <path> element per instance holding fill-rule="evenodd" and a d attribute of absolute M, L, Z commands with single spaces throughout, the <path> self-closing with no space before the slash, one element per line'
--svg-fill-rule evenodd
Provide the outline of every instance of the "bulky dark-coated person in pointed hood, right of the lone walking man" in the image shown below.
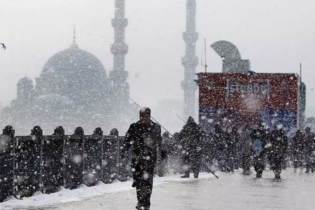
<path fill-rule="evenodd" d="M 194 173 L 194 177 L 198 178 L 201 159 L 201 139 L 204 135 L 201 127 L 197 125 L 192 117 L 189 117 L 186 125 L 184 125 L 178 135 L 182 146 L 184 162 L 184 174 L 182 178 L 189 178 L 191 171 Z"/>

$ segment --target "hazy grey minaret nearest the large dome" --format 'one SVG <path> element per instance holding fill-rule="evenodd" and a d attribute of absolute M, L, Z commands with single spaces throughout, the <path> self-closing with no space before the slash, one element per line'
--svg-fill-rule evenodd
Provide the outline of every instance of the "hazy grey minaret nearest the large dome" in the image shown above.
<path fill-rule="evenodd" d="M 125 27 L 128 19 L 125 18 L 125 0 L 115 0 L 115 18 L 112 19 L 115 37 L 111 45 L 111 52 L 114 55 L 113 70 L 109 72 L 112 81 L 112 92 L 117 98 L 115 107 L 124 107 L 129 99 L 129 84 L 127 83 L 128 72 L 125 71 L 125 55 L 128 53 L 128 45 L 125 43 Z"/>

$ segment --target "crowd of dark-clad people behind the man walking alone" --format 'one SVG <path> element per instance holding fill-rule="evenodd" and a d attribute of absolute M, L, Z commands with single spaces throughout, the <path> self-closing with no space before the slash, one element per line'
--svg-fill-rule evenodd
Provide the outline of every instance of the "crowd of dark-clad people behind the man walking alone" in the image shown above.
<path fill-rule="evenodd" d="M 282 169 L 290 164 L 294 172 L 302 172 L 304 167 L 306 173 L 315 171 L 315 134 L 309 127 L 305 132 L 298 129 L 292 138 L 281 125 L 271 129 L 262 121 L 254 128 L 248 124 L 241 129 L 234 126 L 230 132 L 215 125 L 213 133 L 205 133 L 190 117 L 173 136 L 163 134 L 164 147 L 170 156 L 179 154 L 180 164 L 170 161 L 169 168 L 183 173 L 183 178 L 189 177 L 189 172 L 198 178 L 200 170 L 209 172 L 214 166 L 221 172 L 241 168 L 244 175 L 251 175 L 250 168 L 254 167 L 256 177 L 261 178 L 269 165 L 275 179 L 280 179 Z"/>

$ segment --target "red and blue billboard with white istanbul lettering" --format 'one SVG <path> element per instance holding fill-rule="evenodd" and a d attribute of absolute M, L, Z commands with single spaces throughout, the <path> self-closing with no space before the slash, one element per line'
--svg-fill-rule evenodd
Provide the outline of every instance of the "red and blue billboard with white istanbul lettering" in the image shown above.
<path fill-rule="evenodd" d="M 299 82 L 294 73 L 199 73 L 199 120 L 211 117 L 208 124 L 228 120 L 231 125 L 253 120 L 286 124 L 289 120 L 296 126 Z M 288 119 L 288 114 L 295 119 Z"/>

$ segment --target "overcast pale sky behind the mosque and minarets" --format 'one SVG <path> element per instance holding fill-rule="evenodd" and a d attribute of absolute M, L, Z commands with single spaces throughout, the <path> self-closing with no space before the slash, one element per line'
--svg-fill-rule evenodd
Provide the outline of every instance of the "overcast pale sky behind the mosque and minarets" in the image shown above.
<path fill-rule="evenodd" d="M 200 58 L 205 37 L 208 46 L 234 43 L 255 72 L 298 73 L 302 62 L 307 111 L 315 115 L 314 14 L 311 0 L 197 0 L 197 54 Z M 186 0 L 126 0 L 126 70 L 130 96 L 141 105 L 183 98 L 185 15 Z M 112 17 L 114 0 L 2 0 L 0 41 L 7 50 L 0 50 L 0 100 L 10 102 L 21 77 L 38 77 L 50 56 L 68 48 L 73 25 L 79 47 L 96 55 L 108 73 Z M 221 71 L 221 58 L 208 49 L 209 71 Z"/>

